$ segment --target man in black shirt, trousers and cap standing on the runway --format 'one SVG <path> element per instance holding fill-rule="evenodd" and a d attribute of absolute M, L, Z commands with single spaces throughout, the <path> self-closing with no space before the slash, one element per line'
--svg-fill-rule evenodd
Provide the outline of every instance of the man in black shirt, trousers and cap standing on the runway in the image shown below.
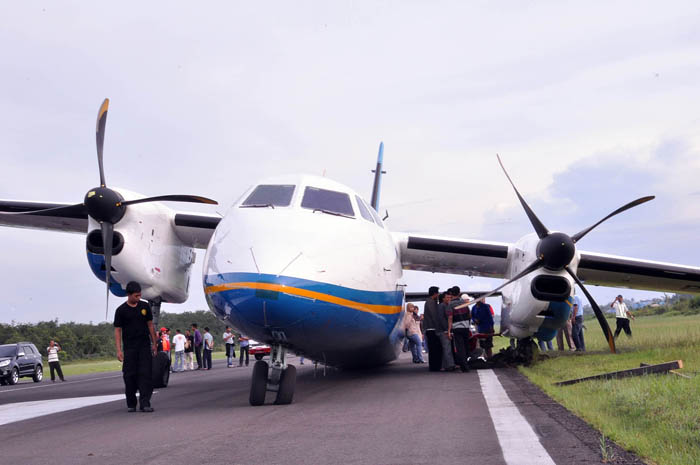
<path fill-rule="evenodd" d="M 152 412 L 152 357 L 158 353 L 158 340 L 153 329 L 151 306 L 141 300 L 141 286 L 135 281 L 126 285 L 127 300 L 114 313 L 114 341 L 117 358 L 123 362 L 126 406 L 136 411 L 136 391 L 139 391 L 141 411 Z M 122 343 L 124 351 L 122 352 Z"/>

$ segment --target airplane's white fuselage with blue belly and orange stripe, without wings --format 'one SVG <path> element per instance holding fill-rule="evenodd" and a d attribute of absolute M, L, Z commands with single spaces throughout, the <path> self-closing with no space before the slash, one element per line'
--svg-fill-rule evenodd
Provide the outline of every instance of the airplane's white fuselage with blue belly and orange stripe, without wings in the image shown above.
<path fill-rule="evenodd" d="M 246 207 L 251 189 L 219 223 L 203 276 L 212 311 L 256 340 L 330 364 L 393 359 L 402 269 L 381 221 L 364 218 L 364 201 L 326 178 L 260 185 L 291 185 L 294 193 L 288 205 Z M 305 208 L 307 188 L 347 194 L 352 217 Z"/>

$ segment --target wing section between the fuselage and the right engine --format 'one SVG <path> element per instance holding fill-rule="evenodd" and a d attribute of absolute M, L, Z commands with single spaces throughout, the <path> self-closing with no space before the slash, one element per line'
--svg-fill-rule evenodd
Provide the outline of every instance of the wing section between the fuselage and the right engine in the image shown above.
<path fill-rule="evenodd" d="M 395 233 L 405 270 L 503 278 L 508 244 Z"/>

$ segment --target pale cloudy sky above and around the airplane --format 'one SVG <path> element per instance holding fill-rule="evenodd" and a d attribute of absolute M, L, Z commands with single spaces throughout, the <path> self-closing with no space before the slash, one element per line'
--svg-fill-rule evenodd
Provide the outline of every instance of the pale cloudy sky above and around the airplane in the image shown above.
<path fill-rule="evenodd" d="M 385 144 L 392 231 L 514 242 L 598 227 L 580 249 L 700 265 L 700 4 L 10 2 L 0 28 L 0 198 L 78 203 L 98 184 L 199 194 L 325 174 L 370 196 Z M 99 322 L 85 237 L 0 228 L 0 322 Z M 190 299 L 206 308 L 198 251 Z M 489 289 L 485 278 L 406 272 Z M 619 290 L 591 287 L 599 303 Z M 637 299 L 658 293 L 626 291 Z M 492 303 L 498 310 L 498 301 Z M 110 317 L 119 304 L 112 297 Z"/>

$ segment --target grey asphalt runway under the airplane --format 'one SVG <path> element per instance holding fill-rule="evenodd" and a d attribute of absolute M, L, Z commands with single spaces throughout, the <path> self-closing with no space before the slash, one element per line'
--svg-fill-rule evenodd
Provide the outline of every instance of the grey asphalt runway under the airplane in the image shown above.
<path fill-rule="evenodd" d="M 322 368 L 314 375 L 308 360 L 303 366 L 297 362 L 290 360 L 298 378 L 294 403 L 286 406 L 248 405 L 252 360 L 240 368 L 217 360 L 209 371 L 171 375 L 170 385 L 153 396 L 154 413 L 126 412 L 119 372 L 55 384 L 23 378 L 16 386 L 0 387 L 2 463 L 570 465 L 601 460 L 598 433 L 515 369 L 429 373 L 403 354 L 386 367 L 327 370 L 324 376 Z M 86 401 L 95 405 L 73 405 Z M 41 413 L 57 403 L 68 410 L 31 419 L 12 416 Z M 619 448 L 615 452 L 614 463 L 643 463 Z"/>

